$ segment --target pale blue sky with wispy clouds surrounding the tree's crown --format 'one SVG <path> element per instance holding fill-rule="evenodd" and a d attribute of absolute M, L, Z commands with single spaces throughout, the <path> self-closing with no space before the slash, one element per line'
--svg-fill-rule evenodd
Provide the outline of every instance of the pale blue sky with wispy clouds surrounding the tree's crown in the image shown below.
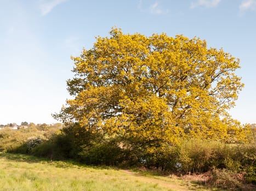
<path fill-rule="evenodd" d="M 231 114 L 256 123 L 256 0 L 0 0 L 0 124 L 56 122 L 69 97 L 70 56 L 112 26 L 206 39 L 241 59 L 245 84 Z"/>

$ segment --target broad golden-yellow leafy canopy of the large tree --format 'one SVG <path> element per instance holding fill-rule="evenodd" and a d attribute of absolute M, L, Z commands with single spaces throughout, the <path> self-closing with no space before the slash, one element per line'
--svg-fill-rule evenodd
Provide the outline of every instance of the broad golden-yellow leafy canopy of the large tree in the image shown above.
<path fill-rule="evenodd" d="M 205 40 L 112 28 L 72 59 L 73 99 L 55 115 L 64 123 L 148 143 L 244 136 L 227 112 L 243 87 L 239 59 Z"/>

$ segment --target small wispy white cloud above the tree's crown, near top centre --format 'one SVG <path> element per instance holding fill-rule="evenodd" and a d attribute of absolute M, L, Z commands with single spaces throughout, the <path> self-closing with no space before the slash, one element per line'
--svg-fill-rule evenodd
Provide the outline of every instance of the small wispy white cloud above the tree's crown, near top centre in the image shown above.
<path fill-rule="evenodd" d="M 161 15 L 168 13 L 168 9 L 163 9 L 157 1 L 150 5 L 144 5 L 145 3 L 143 0 L 139 1 L 138 8 L 140 9 L 141 12 L 147 12 L 153 15 Z"/>

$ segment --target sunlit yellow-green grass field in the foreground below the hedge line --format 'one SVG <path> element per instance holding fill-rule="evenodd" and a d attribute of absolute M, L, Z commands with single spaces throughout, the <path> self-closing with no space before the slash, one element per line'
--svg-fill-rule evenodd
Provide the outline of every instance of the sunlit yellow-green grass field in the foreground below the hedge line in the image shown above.
<path fill-rule="evenodd" d="M 169 176 L 0 153 L 0 190 L 209 190 Z M 213 190 L 213 189 L 211 189 Z"/>

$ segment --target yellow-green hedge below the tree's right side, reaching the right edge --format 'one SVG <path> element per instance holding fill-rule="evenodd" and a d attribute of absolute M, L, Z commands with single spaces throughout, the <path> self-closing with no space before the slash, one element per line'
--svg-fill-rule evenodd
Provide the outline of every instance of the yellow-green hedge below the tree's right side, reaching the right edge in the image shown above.
<path fill-rule="evenodd" d="M 253 145 L 191 139 L 177 148 L 178 170 L 188 173 L 219 168 L 240 172 L 254 165 L 255 153 Z"/>

